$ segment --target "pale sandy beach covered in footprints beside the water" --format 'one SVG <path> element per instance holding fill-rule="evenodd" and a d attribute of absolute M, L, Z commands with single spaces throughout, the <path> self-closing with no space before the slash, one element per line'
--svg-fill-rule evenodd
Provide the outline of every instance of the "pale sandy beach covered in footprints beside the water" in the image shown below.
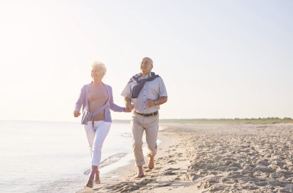
<path fill-rule="evenodd" d="M 132 162 L 78 192 L 293 192 L 293 124 L 160 126 L 153 170 L 136 179 Z"/>

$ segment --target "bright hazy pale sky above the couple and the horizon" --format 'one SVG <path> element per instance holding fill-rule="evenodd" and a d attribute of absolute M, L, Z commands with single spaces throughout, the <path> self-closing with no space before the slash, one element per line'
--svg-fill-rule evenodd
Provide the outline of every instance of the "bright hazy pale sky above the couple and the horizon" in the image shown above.
<path fill-rule="evenodd" d="M 1 120 L 80 121 L 95 60 L 122 106 L 145 56 L 161 119 L 293 117 L 293 1 L 0 1 L 0 27 Z"/>

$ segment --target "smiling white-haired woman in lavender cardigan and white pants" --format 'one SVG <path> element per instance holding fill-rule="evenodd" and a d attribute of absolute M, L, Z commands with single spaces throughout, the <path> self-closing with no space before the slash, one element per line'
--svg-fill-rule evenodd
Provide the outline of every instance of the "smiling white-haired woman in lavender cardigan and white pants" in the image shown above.
<path fill-rule="evenodd" d="M 79 117 L 82 106 L 81 124 L 84 125 L 91 156 L 91 174 L 86 184 L 93 187 L 93 183 L 100 183 L 98 166 L 101 160 L 101 149 L 111 126 L 110 109 L 116 112 L 131 112 L 131 108 L 120 107 L 113 102 L 111 86 L 104 84 L 102 78 L 106 67 L 101 62 L 91 65 L 93 81 L 81 88 L 79 99 L 74 108 L 74 117 Z"/>

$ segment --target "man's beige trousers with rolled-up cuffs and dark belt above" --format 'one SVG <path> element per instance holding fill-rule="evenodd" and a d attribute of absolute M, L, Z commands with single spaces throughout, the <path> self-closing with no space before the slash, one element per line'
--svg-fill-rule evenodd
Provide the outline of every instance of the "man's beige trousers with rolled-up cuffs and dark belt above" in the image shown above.
<path fill-rule="evenodd" d="M 132 150 L 135 166 L 142 166 L 145 164 L 144 154 L 142 152 L 142 135 L 144 131 L 146 133 L 147 156 L 154 157 L 157 152 L 159 114 L 144 117 L 132 112 L 130 125 L 132 130 Z"/>

